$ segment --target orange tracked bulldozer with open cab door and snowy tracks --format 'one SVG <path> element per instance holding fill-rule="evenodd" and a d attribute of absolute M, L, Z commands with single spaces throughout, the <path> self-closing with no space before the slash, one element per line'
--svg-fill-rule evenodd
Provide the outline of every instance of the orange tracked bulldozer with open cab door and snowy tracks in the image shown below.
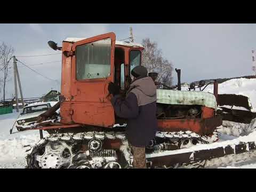
<path fill-rule="evenodd" d="M 39 130 L 41 140 L 27 150 L 27 167 L 33 169 L 123 169 L 133 167 L 133 155 L 125 136 L 126 119 L 115 114 L 108 84 L 113 82 L 125 95 L 131 83 L 130 71 L 141 65 L 144 47 L 116 41 L 115 33 L 90 38 L 67 38 L 58 47 L 62 52 L 61 97 L 37 123 L 22 127 Z M 203 167 L 207 159 L 254 150 L 254 142 L 236 147 L 211 146 L 218 141 L 216 129 L 218 84 L 214 94 L 181 91 L 156 82 L 158 132 L 146 147 L 148 168 Z M 51 118 L 60 108 L 60 117 Z M 49 133 L 46 137 L 43 131 Z M 248 148 L 241 145 L 250 145 Z M 204 146 L 195 148 L 197 146 Z M 237 146 L 238 149 L 237 150 Z M 28 146 L 26 146 L 28 147 Z M 242 149 L 241 149 L 242 148 Z"/>

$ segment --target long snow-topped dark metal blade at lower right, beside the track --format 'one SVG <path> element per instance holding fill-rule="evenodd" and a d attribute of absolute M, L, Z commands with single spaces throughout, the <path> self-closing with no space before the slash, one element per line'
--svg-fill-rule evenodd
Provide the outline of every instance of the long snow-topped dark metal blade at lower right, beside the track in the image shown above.
<path fill-rule="evenodd" d="M 253 133 L 251 133 L 253 134 Z M 254 132 L 254 135 L 256 132 Z M 159 153 L 147 154 L 147 163 L 154 167 L 172 167 L 178 163 L 192 163 L 203 160 L 210 160 L 231 154 L 241 154 L 256 149 L 256 137 L 254 140 L 250 135 L 229 141 L 221 141 L 200 146 L 194 146 L 187 149 L 178 149 L 173 151 L 163 151 Z M 249 141 L 245 141 L 245 140 Z M 240 140 L 240 141 L 239 141 Z"/>

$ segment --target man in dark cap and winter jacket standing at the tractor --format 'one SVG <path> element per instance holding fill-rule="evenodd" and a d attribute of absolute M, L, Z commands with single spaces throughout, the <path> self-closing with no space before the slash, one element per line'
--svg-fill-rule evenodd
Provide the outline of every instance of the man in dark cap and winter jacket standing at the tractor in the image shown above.
<path fill-rule="evenodd" d="M 127 119 L 127 140 L 132 147 L 133 167 L 145 169 L 145 147 L 154 139 L 157 131 L 156 86 L 143 66 L 134 67 L 133 77 L 126 97 L 119 95 L 119 87 L 114 83 L 108 86 L 114 97 L 111 103 L 117 116 Z"/>

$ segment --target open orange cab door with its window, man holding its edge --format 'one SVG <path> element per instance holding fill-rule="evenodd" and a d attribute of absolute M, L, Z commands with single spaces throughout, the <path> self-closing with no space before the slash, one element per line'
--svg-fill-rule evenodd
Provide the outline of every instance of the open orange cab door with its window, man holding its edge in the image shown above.
<path fill-rule="evenodd" d="M 75 42 L 71 67 L 71 118 L 75 123 L 112 127 L 108 84 L 114 82 L 116 36 L 103 34 Z"/>

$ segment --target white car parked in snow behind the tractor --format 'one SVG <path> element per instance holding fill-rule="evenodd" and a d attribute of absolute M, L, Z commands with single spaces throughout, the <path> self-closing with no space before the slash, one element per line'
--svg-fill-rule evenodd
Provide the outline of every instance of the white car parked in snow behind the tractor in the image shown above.
<path fill-rule="evenodd" d="M 22 126 L 30 125 L 36 122 L 36 118 L 51 108 L 49 102 L 32 103 L 23 108 L 22 113 L 17 118 L 17 130 L 20 131 Z"/>

